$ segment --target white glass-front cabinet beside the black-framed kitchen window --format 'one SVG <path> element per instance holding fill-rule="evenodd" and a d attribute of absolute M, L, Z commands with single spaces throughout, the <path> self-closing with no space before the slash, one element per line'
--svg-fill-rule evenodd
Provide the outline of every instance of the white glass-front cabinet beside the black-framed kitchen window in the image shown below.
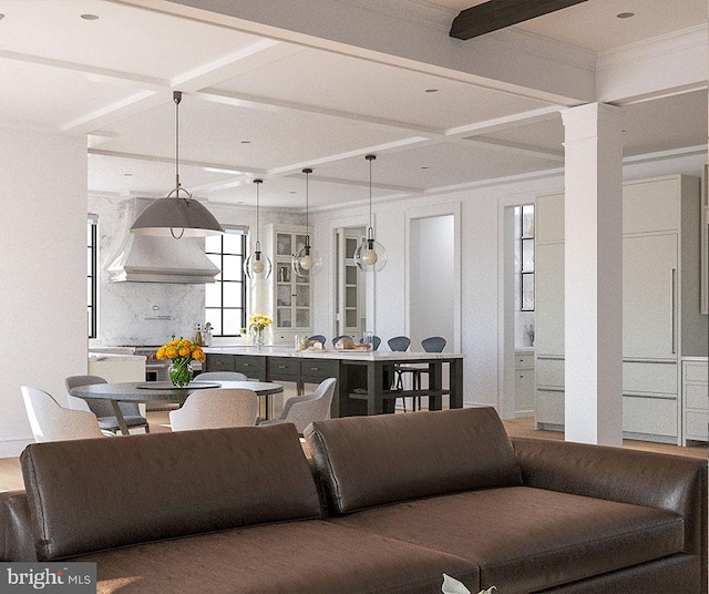
<path fill-rule="evenodd" d="M 268 225 L 266 236 L 274 258 L 269 287 L 273 342 L 290 346 L 297 334 L 312 332 L 312 285 L 309 278 L 297 276 L 291 266 L 292 255 L 305 246 L 306 229 Z"/>

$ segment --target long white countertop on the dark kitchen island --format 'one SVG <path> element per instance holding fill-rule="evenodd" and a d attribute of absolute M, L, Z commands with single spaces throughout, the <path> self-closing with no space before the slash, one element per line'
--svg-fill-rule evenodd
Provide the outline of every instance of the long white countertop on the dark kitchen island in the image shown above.
<path fill-rule="evenodd" d="M 299 350 L 296 351 L 289 347 L 268 347 L 264 346 L 260 349 L 254 346 L 244 347 L 205 347 L 204 351 L 215 355 L 251 355 L 256 357 L 304 357 L 304 358 L 318 358 L 318 359 L 358 359 L 364 361 L 374 360 L 412 360 L 412 359 L 461 359 L 460 354 L 453 352 L 418 352 L 418 351 L 381 351 L 381 350 Z"/>

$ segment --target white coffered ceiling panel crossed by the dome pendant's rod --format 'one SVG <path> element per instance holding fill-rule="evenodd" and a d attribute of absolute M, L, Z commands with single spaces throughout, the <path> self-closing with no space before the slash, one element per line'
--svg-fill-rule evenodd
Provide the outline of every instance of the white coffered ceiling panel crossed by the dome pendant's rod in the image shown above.
<path fill-rule="evenodd" d="M 102 148 L 168 156 L 174 154 L 172 104 L 154 107 L 112 129 Z M 238 171 L 271 171 L 332 158 L 349 152 L 404 141 L 402 131 L 316 113 L 260 111 L 183 96 L 179 106 L 181 158 L 232 164 Z M 248 141 L 248 144 L 244 144 Z"/>

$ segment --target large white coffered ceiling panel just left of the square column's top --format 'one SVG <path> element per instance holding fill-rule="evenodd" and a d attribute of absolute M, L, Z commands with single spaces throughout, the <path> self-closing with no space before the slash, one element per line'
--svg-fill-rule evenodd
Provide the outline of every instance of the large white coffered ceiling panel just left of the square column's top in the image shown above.
<path fill-rule="evenodd" d="M 526 98 L 319 50 L 288 55 L 261 71 L 217 85 L 235 94 L 275 98 L 412 127 L 448 129 L 546 107 Z"/>

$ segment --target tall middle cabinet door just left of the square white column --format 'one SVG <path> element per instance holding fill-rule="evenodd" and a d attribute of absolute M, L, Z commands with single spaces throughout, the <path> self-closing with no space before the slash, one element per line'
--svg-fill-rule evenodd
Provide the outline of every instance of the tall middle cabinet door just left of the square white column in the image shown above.
<path fill-rule="evenodd" d="M 537 243 L 535 276 L 535 352 L 564 355 L 564 244 Z"/>

